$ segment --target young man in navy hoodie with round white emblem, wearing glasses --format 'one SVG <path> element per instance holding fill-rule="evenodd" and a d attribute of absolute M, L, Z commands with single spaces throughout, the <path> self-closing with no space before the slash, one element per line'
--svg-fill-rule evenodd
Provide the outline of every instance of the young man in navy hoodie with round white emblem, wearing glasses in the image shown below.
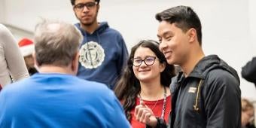
<path fill-rule="evenodd" d="M 81 44 L 78 77 L 97 81 L 114 88 L 128 58 L 122 35 L 109 28 L 107 22 L 98 23 L 100 0 L 71 0 L 75 24 L 84 39 Z"/>

